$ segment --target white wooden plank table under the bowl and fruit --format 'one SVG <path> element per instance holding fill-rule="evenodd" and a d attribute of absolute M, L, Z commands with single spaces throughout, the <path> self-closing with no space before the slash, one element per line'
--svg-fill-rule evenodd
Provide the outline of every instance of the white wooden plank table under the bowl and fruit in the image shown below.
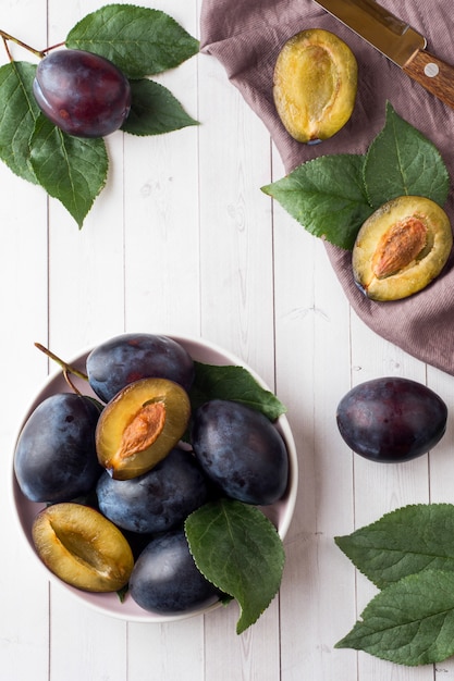
<path fill-rule="evenodd" d="M 44 48 L 101 4 L 2 0 L 0 26 Z M 143 4 L 199 36 L 200 0 Z M 108 186 L 82 231 L 0 165 L 0 679 L 447 681 L 452 660 L 405 668 L 334 649 L 373 591 L 333 537 L 406 504 L 454 500 L 453 422 L 431 455 L 378 466 L 343 444 L 335 408 L 352 385 L 382 375 L 427 383 L 451 407 L 454 381 L 358 321 L 322 244 L 260 191 L 283 168 L 219 63 L 199 54 L 162 82 L 201 125 L 111 136 Z M 235 604 L 162 626 L 100 615 L 50 585 L 17 534 L 7 491 L 13 438 L 54 369 L 34 343 L 71 358 L 123 331 L 201 335 L 249 363 L 287 406 L 299 492 L 284 579 L 241 636 Z"/>

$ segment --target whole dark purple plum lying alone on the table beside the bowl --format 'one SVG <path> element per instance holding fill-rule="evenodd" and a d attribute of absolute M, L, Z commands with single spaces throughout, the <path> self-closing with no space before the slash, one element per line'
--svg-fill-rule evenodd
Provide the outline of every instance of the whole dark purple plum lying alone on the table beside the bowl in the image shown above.
<path fill-rule="evenodd" d="M 338 406 L 348 447 L 372 461 L 408 461 L 426 454 L 445 432 L 447 407 L 430 388 L 402 377 L 381 377 L 352 388 Z"/>

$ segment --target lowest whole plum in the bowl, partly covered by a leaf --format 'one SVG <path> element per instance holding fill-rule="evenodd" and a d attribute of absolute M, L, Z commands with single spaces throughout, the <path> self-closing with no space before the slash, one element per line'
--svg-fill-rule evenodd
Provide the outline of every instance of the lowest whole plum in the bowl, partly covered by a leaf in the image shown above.
<path fill-rule="evenodd" d="M 199 572 L 184 530 L 151 540 L 133 568 L 130 594 L 145 610 L 183 612 L 217 600 L 218 590 Z"/>

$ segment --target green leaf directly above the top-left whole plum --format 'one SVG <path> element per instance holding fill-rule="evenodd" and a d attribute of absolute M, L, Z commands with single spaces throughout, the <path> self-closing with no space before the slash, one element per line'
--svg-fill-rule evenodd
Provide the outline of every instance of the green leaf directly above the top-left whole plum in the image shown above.
<path fill-rule="evenodd" d="M 87 14 L 65 45 L 106 57 L 130 78 L 173 69 L 199 50 L 198 40 L 174 18 L 133 4 L 107 4 Z"/>

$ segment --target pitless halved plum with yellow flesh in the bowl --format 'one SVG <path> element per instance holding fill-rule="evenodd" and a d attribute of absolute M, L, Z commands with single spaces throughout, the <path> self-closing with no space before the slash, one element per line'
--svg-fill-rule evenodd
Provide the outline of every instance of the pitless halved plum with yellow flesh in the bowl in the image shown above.
<path fill-rule="evenodd" d="M 89 506 L 63 502 L 44 508 L 33 523 L 39 558 L 63 582 L 89 592 L 127 584 L 133 553 L 121 531 Z"/>

